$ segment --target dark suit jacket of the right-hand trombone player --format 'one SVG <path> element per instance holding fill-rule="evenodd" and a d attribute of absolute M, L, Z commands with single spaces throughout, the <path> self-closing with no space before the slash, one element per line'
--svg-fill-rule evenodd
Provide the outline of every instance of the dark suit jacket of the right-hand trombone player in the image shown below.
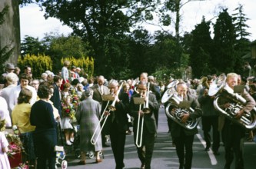
<path fill-rule="evenodd" d="M 135 104 L 133 98 L 140 98 L 140 94 L 134 94 L 131 97 L 131 103 L 130 103 L 130 111 L 129 114 L 135 118 L 134 120 L 134 127 L 133 131 L 137 133 L 137 125 L 138 125 L 138 111 L 139 111 L 139 104 Z M 141 105 L 142 107 L 142 105 Z M 158 101 L 155 98 L 155 94 L 148 94 L 148 108 L 150 109 L 150 113 L 144 114 L 144 128 L 148 128 L 149 133 L 156 133 L 157 127 L 155 122 L 155 116 L 154 111 L 159 108 Z"/>

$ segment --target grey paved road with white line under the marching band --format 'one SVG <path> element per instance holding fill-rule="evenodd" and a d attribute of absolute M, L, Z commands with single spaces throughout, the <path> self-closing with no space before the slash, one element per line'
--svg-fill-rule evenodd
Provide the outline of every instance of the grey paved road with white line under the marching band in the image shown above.
<path fill-rule="evenodd" d="M 220 155 L 214 156 L 212 151 L 205 152 L 205 142 L 202 138 L 201 128 L 198 125 L 199 134 L 194 137 L 194 157 L 192 169 L 221 169 L 224 168 L 224 147 L 220 147 Z M 86 168 L 86 169 L 115 169 L 115 160 L 111 151 L 111 147 L 104 148 L 104 159 L 101 163 L 95 164 L 95 158 L 87 159 L 86 165 L 77 165 L 79 159 L 74 154 L 68 153 L 65 158 L 68 161 L 68 168 Z M 141 165 L 138 160 L 137 151 L 133 142 L 133 135 L 127 135 L 125 144 L 125 168 L 137 169 Z M 256 144 L 246 141 L 244 143 L 244 165 L 246 169 L 256 168 Z M 155 142 L 155 150 L 151 162 L 152 169 L 176 169 L 178 168 L 178 157 L 175 147 L 171 146 L 171 137 L 168 134 L 168 126 L 163 108 L 159 111 L 158 137 Z M 232 166 L 234 168 L 234 164 Z"/>

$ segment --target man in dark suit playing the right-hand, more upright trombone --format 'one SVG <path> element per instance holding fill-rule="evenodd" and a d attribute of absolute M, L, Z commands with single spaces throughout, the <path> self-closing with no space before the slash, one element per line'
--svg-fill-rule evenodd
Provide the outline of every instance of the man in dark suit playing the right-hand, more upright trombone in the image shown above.
<path fill-rule="evenodd" d="M 151 157 L 153 154 L 157 127 L 154 112 L 159 108 L 155 94 L 148 93 L 147 83 L 140 81 L 138 84 L 138 94 L 134 94 L 131 98 L 130 115 L 134 120 L 134 140 L 137 147 L 138 157 L 141 161 L 141 169 L 151 168 Z M 147 94 L 148 93 L 148 94 Z M 135 98 L 144 98 L 145 105 L 148 104 L 148 111 L 142 111 L 143 104 L 135 104 Z M 138 118 L 140 117 L 140 126 L 138 127 Z M 143 119 L 143 123 L 141 121 Z M 141 128 L 143 124 L 143 128 Z M 141 138 L 142 132 L 142 140 Z M 138 132 L 138 141 L 137 139 Z M 141 142 L 141 145 L 139 145 Z"/>

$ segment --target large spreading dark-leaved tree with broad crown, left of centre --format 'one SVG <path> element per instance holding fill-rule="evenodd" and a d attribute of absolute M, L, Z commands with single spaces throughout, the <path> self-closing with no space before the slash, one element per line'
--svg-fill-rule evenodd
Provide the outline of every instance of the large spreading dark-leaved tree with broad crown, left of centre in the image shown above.
<path fill-rule="evenodd" d="M 108 44 L 125 35 L 144 19 L 152 19 L 159 0 L 35 0 L 45 9 L 45 18 L 60 19 L 73 29 L 75 35 L 88 41 L 95 52 L 95 71 L 105 73 Z M 25 0 L 25 2 L 29 2 Z M 116 35 L 115 37 L 113 35 Z M 120 41 L 111 41 L 120 42 Z"/>

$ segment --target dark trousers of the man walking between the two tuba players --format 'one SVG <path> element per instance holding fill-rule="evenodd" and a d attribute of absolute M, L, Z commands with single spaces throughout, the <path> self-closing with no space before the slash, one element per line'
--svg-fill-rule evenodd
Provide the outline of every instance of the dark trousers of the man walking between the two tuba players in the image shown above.
<path fill-rule="evenodd" d="M 218 151 L 218 148 L 220 147 L 218 116 L 203 116 L 201 117 L 201 124 L 204 131 L 204 141 L 206 142 L 206 147 L 211 147 L 211 134 L 209 132 L 212 128 L 212 150 Z"/>

